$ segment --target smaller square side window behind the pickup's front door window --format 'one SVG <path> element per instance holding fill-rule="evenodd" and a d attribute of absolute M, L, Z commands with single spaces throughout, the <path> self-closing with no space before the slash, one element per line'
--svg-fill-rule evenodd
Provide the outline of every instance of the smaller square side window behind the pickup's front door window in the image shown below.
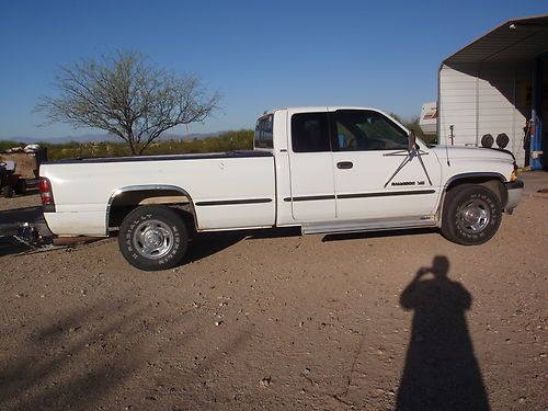
<path fill-rule="evenodd" d="M 331 151 L 328 113 L 300 113 L 292 116 L 294 152 Z"/>

